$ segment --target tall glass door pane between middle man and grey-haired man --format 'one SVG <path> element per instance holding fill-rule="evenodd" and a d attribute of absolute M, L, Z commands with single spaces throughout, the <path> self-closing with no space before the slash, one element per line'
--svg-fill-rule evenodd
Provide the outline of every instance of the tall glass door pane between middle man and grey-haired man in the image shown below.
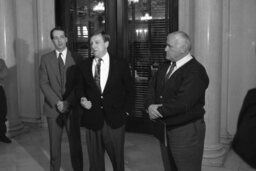
<path fill-rule="evenodd" d="M 169 30 L 167 0 L 128 0 L 130 59 L 136 84 L 135 117 L 147 117 L 144 100 L 148 81 L 165 60 L 164 45 Z"/>

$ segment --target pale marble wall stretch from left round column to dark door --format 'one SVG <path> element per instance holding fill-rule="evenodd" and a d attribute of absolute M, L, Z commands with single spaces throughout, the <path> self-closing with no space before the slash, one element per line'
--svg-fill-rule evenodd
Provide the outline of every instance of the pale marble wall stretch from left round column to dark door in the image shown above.
<path fill-rule="evenodd" d="M 16 0 L 19 113 L 23 121 L 41 121 L 38 68 L 42 52 L 49 51 L 54 27 L 54 0 Z M 26 20 L 24 20 L 26 18 Z"/>

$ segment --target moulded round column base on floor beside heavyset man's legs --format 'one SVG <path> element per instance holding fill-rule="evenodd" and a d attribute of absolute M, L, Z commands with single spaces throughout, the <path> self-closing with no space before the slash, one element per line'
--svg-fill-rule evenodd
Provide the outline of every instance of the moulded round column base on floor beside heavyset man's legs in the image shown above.
<path fill-rule="evenodd" d="M 205 146 L 203 155 L 203 166 L 223 166 L 229 146 L 222 144 Z"/>

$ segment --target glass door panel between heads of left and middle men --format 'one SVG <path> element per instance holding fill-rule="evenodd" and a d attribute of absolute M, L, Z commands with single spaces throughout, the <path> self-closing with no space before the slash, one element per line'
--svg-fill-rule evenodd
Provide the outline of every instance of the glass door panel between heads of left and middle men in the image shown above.
<path fill-rule="evenodd" d="M 83 58 L 91 56 L 90 35 L 105 28 L 105 1 L 69 0 L 69 43 Z"/>

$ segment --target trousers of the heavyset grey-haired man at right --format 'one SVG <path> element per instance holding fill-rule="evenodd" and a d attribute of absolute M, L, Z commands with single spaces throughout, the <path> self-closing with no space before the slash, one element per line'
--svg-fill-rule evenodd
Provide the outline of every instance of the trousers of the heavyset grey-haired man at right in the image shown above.
<path fill-rule="evenodd" d="M 205 138 L 203 119 L 167 131 L 161 146 L 165 171 L 200 171 Z"/>

